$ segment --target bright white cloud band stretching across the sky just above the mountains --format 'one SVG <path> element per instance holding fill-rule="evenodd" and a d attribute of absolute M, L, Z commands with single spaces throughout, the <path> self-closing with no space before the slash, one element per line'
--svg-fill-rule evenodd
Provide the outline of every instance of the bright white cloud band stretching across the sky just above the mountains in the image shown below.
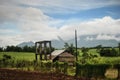
<path fill-rule="evenodd" d="M 24 25 L 23 25 L 24 24 Z M 2 43 L 9 40 L 9 44 L 17 44 L 22 41 L 38 41 L 57 39 L 57 36 L 64 40 L 74 38 L 74 31 L 77 30 L 78 36 L 97 35 L 96 37 L 87 37 L 86 40 L 110 40 L 120 41 L 120 19 L 113 19 L 109 16 L 96 18 L 90 21 L 79 22 L 77 24 L 65 24 L 60 28 L 50 27 L 49 24 L 37 22 L 22 23 L 20 29 L 23 31 L 19 35 L 2 36 Z M 9 32 L 9 31 L 8 31 Z"/>

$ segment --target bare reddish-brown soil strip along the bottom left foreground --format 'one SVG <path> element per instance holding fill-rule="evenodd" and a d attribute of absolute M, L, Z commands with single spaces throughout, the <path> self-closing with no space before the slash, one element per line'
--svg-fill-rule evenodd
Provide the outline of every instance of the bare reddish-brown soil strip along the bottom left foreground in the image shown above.
<path fill-rule="evenodd" d="M 16 69 L 1 69 L 0 80 L 83 80 L 60 73 L 42 73 L 38 71 L 22 71 Z"/>

